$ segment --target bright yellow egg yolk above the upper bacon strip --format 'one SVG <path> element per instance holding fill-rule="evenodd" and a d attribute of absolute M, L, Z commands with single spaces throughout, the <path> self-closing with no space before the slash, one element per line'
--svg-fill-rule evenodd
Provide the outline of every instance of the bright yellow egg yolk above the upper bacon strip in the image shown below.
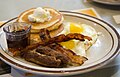
<path fill-rule="evenodd" d="M 81 25 L 70 23 L 70 33 L 82 33 L 83 27 Z"/>

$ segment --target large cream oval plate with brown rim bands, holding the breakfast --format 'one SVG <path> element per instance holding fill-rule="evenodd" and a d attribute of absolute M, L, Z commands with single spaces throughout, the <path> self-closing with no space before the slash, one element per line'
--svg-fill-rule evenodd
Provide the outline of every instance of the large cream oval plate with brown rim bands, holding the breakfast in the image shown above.
<path fill-rule="evenodd" d="M 0 34 L 0 59 L 12 67 L 26 72 L 49 76 L 67 76 L 82 74 L 98 69 L 109 63 L 119 54 L 120 37 L 119 33 L 112 25 L 101 19 L 81 13 L 70 11 L 61 11 L 61 13 L 64 16 L 64 22 L 84 23 L 92 26 L 101 34 L 95 44 L 87 50 L 88 60 L 83 65 L 69 68 L 49 68 L 27 62 L 19 57 L 13 57 L 7 50 L 5 34 L 2 29 L 2 33 Z M 16 19 L 17 18 L 13 18 L 2 26 L 6 26 L 10 22 L 16 21 Z"/>

